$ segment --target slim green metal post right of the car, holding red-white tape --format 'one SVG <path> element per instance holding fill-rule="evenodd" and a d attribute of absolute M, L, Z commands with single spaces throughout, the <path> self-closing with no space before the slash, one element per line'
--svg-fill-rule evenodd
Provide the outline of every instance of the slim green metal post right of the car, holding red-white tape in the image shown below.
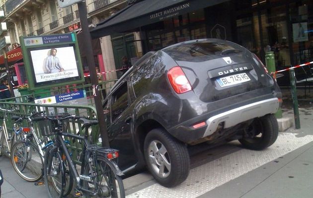
<path fill-rule="evenodd" d="M 300 129 L 300 116 L 299 116 L 299 107 L 298 107 L 298 98 L 297 98 L 297 89 L 296 89 L 296 76 L 295 70 L 290 69 L 290 86 L 291 86 L 291 98 L 294 105 L 294 116 L 295 116 L 295 125 L 296 129 Z"/>

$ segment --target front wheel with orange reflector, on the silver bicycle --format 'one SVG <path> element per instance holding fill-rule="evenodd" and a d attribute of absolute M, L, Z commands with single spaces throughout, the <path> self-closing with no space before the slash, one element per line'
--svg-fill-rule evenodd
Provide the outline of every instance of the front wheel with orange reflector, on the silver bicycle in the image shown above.
<path fill-rule="evenodd" d="M 34 143 L 28 140 L 16 142 L 11 150 L 11 161 L 24 180 L 37 182 L 42 178 L 43 159 Z"/>

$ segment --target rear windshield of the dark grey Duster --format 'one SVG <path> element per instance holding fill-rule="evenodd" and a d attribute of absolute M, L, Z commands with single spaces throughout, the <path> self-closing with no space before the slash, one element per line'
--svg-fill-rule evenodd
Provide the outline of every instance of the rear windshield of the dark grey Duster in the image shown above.
<path fill-rule="evenodd" d="M 182 43 L 162 50 L 174 60 L 202 62 L 228 55 L 241 54 L 244 49 L 231 42 L 201 41 Z"/>

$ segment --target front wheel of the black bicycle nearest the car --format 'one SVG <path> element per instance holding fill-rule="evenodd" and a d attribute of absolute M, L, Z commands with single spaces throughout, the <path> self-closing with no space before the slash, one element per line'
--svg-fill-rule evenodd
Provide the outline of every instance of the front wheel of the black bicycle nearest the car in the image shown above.
<path fill-rule="evenodd" d="M 50 156 L 51 160 L 49 160 Z M 50 169 L 50 171 L 49 171 Z M 49 198 L 62 198 L 65 188 L 65 167 L 60 152 L 56 151 L 45 154 L 44 182 Z"/>

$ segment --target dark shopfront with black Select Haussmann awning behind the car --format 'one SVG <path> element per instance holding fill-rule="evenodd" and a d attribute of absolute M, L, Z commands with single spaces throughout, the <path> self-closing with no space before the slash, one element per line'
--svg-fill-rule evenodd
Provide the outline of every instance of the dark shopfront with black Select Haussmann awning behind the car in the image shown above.
<path fill-rule="evenodd" d="M 263 62 L 272 50 L 277 68 L 313 60 L 312 0 L 175 0 L 158 10 L 150 1 L 137 0 L 91 31 L 111 36 L 116 69 L 123 56 L 133 63 L 148 51 L 203 38 L 233 41 Z M 147 10 L 130 14 L 145 3 Z"/>

